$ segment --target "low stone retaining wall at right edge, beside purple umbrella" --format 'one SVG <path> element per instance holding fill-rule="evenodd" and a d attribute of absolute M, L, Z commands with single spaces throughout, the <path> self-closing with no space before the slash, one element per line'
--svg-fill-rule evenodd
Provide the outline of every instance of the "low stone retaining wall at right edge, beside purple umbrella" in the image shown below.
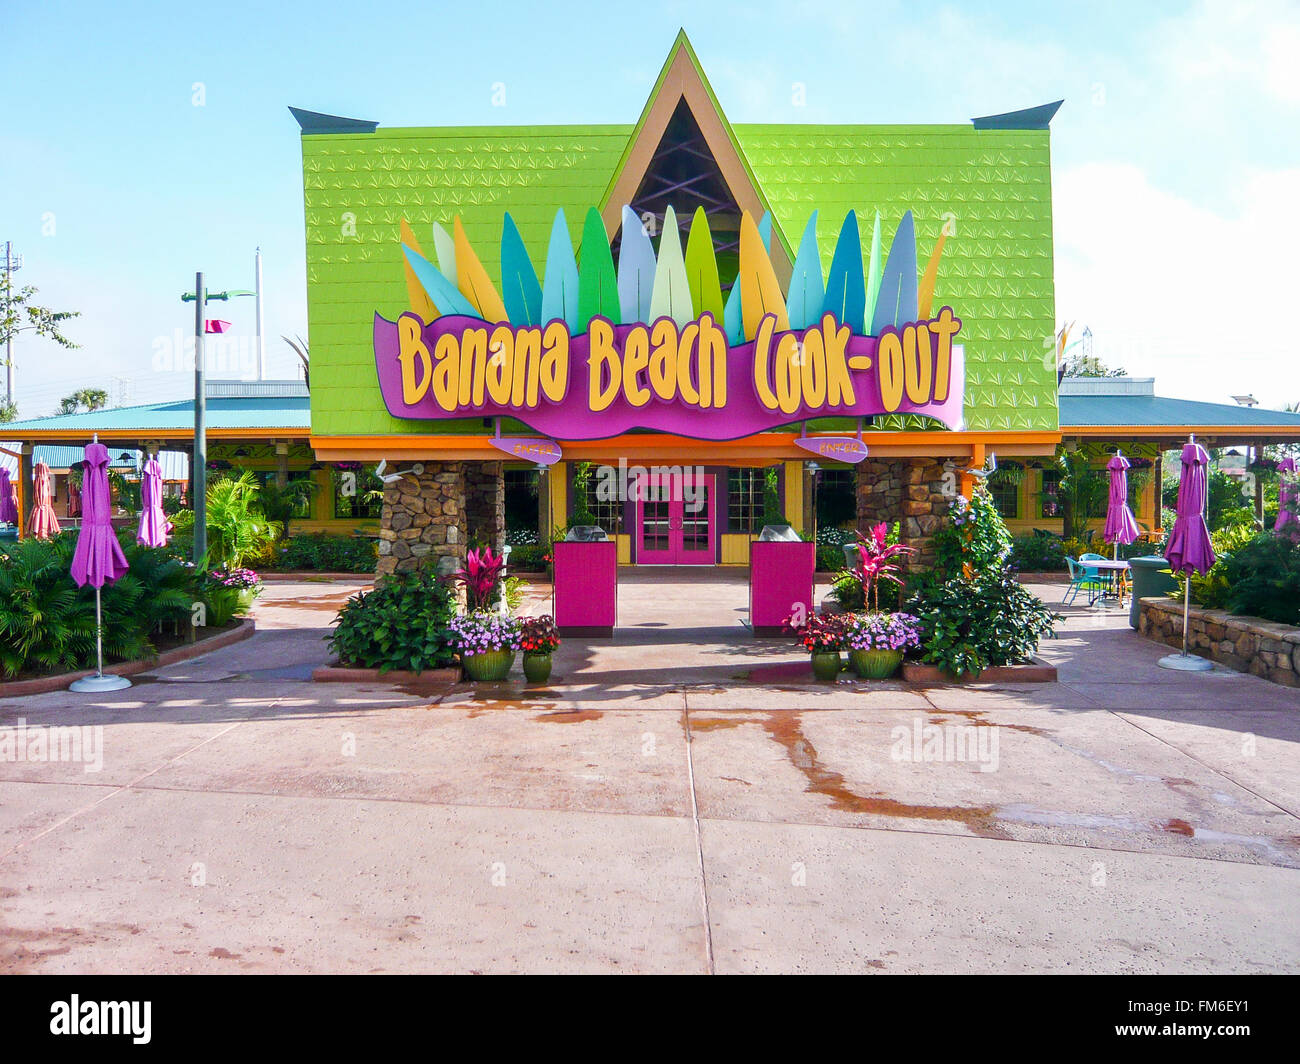
<path fill-rule="evenodd" d="M 1183 606 L 1171 598 L 1143 598 L 1138 631 L 1157 643 L 1183 646 Z M 1300 687 L 1300 628 L 1257 617 L 1193 606 L 1188 613 L 1187 649 L 1239 672 Z"/>

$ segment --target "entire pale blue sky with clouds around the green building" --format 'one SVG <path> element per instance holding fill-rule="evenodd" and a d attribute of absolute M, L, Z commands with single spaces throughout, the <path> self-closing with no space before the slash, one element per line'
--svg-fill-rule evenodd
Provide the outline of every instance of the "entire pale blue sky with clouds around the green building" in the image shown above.
<path fill-rule="evenodd" d="M 1052 122 L 1058 323 L 1160 394 L 1300 401 L 1300 1 L 150 3 L 0 0 L 0 243 L 78 310 L 16 343 L 21 416 L 100 386 L 192 394 L 181 294 L 251 289 L 268 376 L 307 334 L 289 104 L 385 126 L 636 121 L 685 27 L 733 122 Z M 802 85 L 796 98 L 792 87 Z M 504 86 L 504 98 L 495 86 Z M 213 376 L 246 376 L 254 300 Z"/>

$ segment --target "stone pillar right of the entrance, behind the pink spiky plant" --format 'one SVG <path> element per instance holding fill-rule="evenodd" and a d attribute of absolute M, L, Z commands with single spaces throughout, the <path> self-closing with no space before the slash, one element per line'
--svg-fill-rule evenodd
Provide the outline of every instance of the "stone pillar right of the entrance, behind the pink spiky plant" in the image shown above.
<path fill-rule="evenodd" d="M 858 528 L 900 524 L 900 539 L 916 553 L 910 568 L 935 563 L 935 532 L 952 506 L 956 480 L 942 458 L 867 458 L 858 463 Z"/>

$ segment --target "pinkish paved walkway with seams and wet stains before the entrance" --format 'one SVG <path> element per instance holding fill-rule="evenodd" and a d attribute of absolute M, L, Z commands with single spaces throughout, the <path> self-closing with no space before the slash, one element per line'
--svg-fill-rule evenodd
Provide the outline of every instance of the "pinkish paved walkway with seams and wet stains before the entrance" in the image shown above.
<path fill-rule="evenodd" d="M 818 685 L 742 576 L 621 576 L 542 689 L 309 683 L 359 584 L 302 581 L 0 700 L 103 726 L 99 771 L 0 761 L 0 970 L 1300 970 L 1300 692 L 1087 607 L 1056 684 Z"/>

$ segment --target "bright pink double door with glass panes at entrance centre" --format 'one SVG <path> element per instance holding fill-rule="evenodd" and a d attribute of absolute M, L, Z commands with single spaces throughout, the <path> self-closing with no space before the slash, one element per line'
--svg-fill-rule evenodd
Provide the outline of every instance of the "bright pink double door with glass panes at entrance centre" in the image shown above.
<path fill-rule="evenodd" d="M 641 485 L 634 529 L 637 565 L 714 565 L 718 544 L 714 477 L 647 475 Z"/>

